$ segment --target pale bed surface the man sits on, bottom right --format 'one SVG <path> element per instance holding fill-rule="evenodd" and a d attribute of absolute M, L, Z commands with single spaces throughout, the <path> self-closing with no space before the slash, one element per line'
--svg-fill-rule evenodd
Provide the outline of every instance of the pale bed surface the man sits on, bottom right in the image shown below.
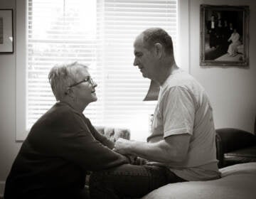
<path fill-rule="evenodd" d="M 191 181 L 164 185 L 143 199 L 255 199 L 256 162 L 240 163 L 220 169 L 221 178 L 214 181 Z"/>

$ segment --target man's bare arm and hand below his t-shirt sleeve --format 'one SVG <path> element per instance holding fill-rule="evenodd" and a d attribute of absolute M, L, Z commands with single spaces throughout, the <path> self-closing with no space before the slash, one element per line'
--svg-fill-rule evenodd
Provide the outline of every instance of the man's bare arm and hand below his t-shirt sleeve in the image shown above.
<path fill-rule="evenodd" d="M 176 134 L 156 143 L 118 139 L 114 144 L 114 151 L 133 154 L 149 161 L 178 162 L 186 158 L 190 137 L 190 134 Z"/>

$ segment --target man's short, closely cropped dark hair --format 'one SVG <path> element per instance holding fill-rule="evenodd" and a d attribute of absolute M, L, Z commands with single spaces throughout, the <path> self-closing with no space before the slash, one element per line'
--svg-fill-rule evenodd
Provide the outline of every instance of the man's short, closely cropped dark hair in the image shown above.
<path fill-rule="evenodd" d="M 168 55 L 174 55 L 174 45 L 171 36 L 162 28 L 148 28 L 142 32 L 144 45 L 147 49 L 154 47 L 155 43 L 161 43 Z"/>

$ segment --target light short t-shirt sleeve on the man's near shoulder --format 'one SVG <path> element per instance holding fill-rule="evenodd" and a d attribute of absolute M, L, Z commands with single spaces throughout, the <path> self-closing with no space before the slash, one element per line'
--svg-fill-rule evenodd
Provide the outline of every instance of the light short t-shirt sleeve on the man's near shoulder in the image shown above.
<path fill-rule="evenodd" d="M 184 87 L 169 87 L 161 100 L 164 137 L 174 134 L 193 134 L 195 104 Z"/>

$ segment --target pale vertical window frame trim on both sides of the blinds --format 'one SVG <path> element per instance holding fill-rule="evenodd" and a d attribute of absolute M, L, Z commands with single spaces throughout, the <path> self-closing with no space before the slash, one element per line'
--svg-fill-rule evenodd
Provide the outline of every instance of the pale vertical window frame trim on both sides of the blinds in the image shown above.
<path fill-rule="evenodd" d="M 26 130 L 26 0 L 16 1 L 16 141 L 23 141 L 28 135 Z M 189 0 L 177 1 L 177 55 L 176 63 L 189 71 Z M 182 52 L 182 57 L 181 57 Z M 184 59 L 187 58 L 187 59 Z"/>

